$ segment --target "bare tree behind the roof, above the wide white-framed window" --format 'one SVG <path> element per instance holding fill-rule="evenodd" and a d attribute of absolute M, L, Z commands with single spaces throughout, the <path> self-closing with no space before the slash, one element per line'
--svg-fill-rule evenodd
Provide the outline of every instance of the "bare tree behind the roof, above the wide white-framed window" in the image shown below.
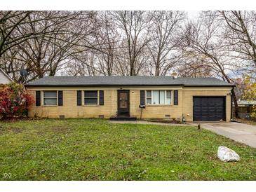
<path fill-rule="evenodd" d="M 151 74 L 165 76 L 180 60 L 182 52 L 182 24 L 184 12 L 152 11 L 150 39 L 147 44 L 151 56 Z"/>

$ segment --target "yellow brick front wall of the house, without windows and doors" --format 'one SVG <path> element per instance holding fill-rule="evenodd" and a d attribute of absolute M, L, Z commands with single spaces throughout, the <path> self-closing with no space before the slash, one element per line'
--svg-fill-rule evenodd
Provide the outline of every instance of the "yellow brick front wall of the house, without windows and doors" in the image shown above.
<path fill-rule="evenodd" d="M 184 116 L 186 121 L 193 121 L 193 96 L 225 96 L 226 97 L 226 120 L 230 121 L 231 114 L 231 87 L 225 88 L 188 88 L 188 87 L 99 87 L 99 88 L 36 88 L 29 87 L 27 90 L 34 96 L 36 90 L 41 90 L 41 106 L 33 104 L 29 109 L 29 116 L 44 118 L 109 118 L 117 114 L 117 90 L 130 90 L 130 116 L 140 118 L 140 90 L 178 90 L 178 105 L 146 105 L 142 111 L 142 118 L 180 118 Z M 63 106 L 43 106 L 43 90 L 62 90 Z M 84 105 L 84 92 L 82 91 L 82 105 L 76 104 L 77 90 L 104 90 L 104 105 Z"/>

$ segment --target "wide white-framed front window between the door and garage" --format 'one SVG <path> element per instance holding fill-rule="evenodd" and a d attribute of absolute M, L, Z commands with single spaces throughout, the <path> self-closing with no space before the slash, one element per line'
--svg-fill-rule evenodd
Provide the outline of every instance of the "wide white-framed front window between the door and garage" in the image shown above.
<path fill-rule="evenodd" d="M 171 104 L 171 90 L 147 90 L 147 104 Z"/>

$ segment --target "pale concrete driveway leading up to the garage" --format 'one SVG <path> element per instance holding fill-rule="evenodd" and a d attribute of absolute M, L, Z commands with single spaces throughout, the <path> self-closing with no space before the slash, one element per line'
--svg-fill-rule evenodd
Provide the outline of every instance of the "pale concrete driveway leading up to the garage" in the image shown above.
<path fill-rule="evenodd" d="M 198 123 L 191 123 L 197 125 Z M 202 128 L 256 148 L 256 126 L 243 123 L 200 123 Z"/>

